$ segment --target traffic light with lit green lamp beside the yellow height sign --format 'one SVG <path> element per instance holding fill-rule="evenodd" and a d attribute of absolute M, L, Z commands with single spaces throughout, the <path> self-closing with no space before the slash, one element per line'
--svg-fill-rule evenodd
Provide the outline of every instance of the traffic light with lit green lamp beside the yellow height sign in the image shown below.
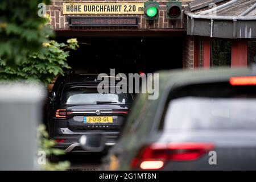
<path fill-rule="evenodd" d="M 144 2 L 144 19 L 158 20 L 159 18 L 159 2 Z"/>

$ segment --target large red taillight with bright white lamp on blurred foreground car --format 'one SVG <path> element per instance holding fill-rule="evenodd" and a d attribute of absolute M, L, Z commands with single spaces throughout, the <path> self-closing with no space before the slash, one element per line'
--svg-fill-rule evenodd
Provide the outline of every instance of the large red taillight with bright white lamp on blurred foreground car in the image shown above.
<path fill-rule="evenodd" d="M 160 169 L 166 161 L 196 160 L 212 149 L 210 143 L 154 143 L 142 148 L 131 168 Z"/>

